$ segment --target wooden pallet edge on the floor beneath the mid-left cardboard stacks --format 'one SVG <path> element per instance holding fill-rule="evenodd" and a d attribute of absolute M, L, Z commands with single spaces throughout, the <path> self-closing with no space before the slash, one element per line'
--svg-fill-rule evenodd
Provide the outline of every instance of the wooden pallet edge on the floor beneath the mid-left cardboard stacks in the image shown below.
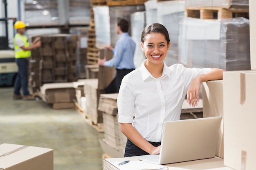
<path fill-rule="evenodd" d="M 94 124 L 94 122 L 89 118 L 88 114 L 85 113 L 83 108 L 81 108 L 81 106 L 79 106 L 79 104 L 76 101 L 74 101 L 74 103 L 75 103 L 76 111 L 82 115 L 82 117 L 85 119 L 85 122 L 87 122 L 90 126 L 96 129 L 98 132 L 101 132 L 101 133 L 104 132 L 103 123 Z"/>

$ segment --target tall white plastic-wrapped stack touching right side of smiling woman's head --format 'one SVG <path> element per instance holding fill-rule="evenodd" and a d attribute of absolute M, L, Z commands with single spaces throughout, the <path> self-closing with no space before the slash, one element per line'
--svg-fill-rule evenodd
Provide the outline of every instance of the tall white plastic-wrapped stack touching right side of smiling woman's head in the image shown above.
<path fill-rule="evenodd" d="M 157 2 L 157 22 L 168 30 L 171 46 L 165 58 L 168 66 L 178 63 L 179 22 L 184 18 L 184 0 Z"/>

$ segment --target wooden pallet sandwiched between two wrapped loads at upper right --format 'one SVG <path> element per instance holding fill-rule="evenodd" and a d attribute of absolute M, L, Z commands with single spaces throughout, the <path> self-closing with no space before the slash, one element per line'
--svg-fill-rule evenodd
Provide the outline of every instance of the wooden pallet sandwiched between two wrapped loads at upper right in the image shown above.
<path fill-rule="evenodd" d="M 185 16 L 200 19 L 249 18 L 247 9 L 225 9 L 221 7 L 186 8 Z"/>

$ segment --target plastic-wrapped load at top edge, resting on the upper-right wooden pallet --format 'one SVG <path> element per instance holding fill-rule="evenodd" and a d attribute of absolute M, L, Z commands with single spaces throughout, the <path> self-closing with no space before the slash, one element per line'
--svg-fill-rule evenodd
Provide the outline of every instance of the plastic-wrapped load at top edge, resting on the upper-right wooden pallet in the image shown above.
<path fill-rule="evenodd" d="M 185 0 L 186 7 L 222 7 L 248 9 L 249 0 Z"/>

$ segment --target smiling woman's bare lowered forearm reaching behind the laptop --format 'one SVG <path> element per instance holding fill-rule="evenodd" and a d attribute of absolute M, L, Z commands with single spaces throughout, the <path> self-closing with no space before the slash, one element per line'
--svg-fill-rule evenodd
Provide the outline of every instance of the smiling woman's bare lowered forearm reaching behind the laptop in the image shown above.
<path fill-rule="evenodd" d="M 130 123 L 119 123 L 121 132 L 126 135 L 126 137 L 132 141 L 133 144 L 141 148 L 142 150 L 148 152 L 149 154 L 159 154 L 160 146 L 153 146 L 148 141 L 146 141 L 139 132 Z"/>

